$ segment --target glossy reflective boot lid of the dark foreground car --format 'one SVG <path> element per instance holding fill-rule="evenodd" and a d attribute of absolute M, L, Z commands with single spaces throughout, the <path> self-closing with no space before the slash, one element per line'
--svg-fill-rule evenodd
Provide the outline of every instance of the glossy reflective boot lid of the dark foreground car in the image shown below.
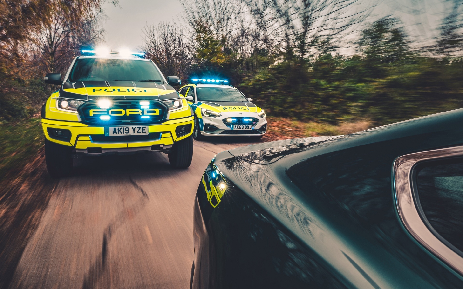
<path fill-rule="evenodd" d="M 228 152 L 239 159 L 247 160 L 261 165 L 267 165 L 280 160 L 282 157 L 291 152 L 294 152 L 294 150 L 298 148 L 306 148 L 315 143 L 330 140 L 339 136 L 341 135 L 316 136 L 282 141 L 263 142 L 246 147 L 234 148 Z M 220 154 L 217 155 L 218 158 L 220 158 L 219 155 Z"/>

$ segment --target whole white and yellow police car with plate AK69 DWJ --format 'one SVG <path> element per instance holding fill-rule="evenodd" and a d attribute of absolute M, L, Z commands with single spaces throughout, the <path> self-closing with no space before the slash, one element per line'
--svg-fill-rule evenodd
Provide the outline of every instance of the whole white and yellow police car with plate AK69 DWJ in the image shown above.
<path fill-rule="evenodd" d="M 179 93 L 194 112 L 196 140 L 205 135 L 261 138 L 267 131 L 265 112 L 227 80 L 193 79 Z"/>

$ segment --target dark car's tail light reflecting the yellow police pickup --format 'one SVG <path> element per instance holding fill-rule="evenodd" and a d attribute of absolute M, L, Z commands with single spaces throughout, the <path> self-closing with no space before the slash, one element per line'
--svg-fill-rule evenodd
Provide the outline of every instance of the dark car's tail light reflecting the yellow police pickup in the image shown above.
<path fill-rule="evenodd" d="M 202 184 L 206 191 L 207 201 L 214 208 L 217 207 L 227 189 L 227 182 L 212 160 L 202 177 Z"/>

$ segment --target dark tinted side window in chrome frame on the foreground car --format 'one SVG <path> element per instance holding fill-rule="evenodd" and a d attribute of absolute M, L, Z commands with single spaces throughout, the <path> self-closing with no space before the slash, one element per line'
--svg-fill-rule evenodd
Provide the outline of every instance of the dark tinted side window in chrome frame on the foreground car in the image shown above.
<path fill-rule="evenodd" d="M 429 225 L 441 240 L 463 252 L 463 160 L 422 165 L 416 184 Z"/>

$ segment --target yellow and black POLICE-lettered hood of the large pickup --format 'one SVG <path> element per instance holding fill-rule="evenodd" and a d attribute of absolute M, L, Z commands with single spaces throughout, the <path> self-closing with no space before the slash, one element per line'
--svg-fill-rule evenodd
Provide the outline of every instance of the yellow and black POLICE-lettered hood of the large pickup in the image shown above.
<path fill-rule="evenodd" d="M 60 97 L 83 100 L 113 99 L 171 99 L 178 98 L 175 89 L 167 83 L 134 81 L 78 81 L 65 82 Z"/>

